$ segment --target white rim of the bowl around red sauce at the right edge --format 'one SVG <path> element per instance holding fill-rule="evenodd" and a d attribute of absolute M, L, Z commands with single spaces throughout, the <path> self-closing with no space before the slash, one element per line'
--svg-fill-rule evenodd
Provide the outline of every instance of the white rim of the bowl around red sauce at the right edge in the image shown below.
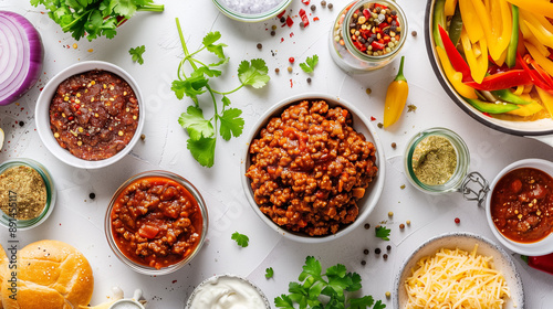
<path fill-rule="evenodd" d="M 522 255 L 528 255 L 528 256 L 540 256 L 540 255 L 546 255 L 550 253 L 553 253 L 553 233 L 551 233 L 549 236 L 545 238 L 535 242 L 535 243 L 518 243 L 514 241 L 509 239 L 508 237 L 503 236 L 500 231 L 498 231 L 498 227 L 495 227 L 495 224 L 493 223 L 491 219 L 491 196 L 493 189 L 495 188 L 495 184 L 505 175 L 508 172 L 515 170 L 515 169 L 521 169 L 521 168 L 534 168 L 538 170 L 541 170 L 550 175 L 553 175 L 553 162 L 542 160 L 542 159 L 524 159 L 520 160 L 517 162 L 513 162 L 505 167 L 499 174 L 493 179 L 492 183 L 490 184 L 490 191 L 488 192 L 488 196 L 486 198 L 486 219 L 488 220 L 488 225 L 491 228 L 491 232 L 493 235 L 503 244 L 505 247 L 509 249 L 522 254 Z"/>

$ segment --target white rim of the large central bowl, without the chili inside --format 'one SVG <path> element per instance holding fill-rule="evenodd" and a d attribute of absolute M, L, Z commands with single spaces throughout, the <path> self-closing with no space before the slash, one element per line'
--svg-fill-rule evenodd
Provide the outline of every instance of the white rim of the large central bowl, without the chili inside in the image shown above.
<path fill-rule="evenodd" d="M 363 199 L 357 201 L 357 206 L 359 207 L 359 214 L 355 222 L 352 224 L 341 228 L 336 234 L 330 234 L 325 236 L 309 236 L 307 234 L 302 234 L 302 233 L 294 233 L 291 231 L 288 231 L 281 226 L 279 226 L 276 223 L 274 223 L 270 217 L 268 217 L 265 214 L 263 214 L 259 205 L 255 203 L 255 200 L 253 199 L 253 191 L 251 190 L 250 185 L 250 179 L 246 177 L 246 171 L 250 167 L 250 153 L 249 153 L 249 148 L 250 148 L 250 141 L 252 141 L 258 134 L 260 132 L 261 128 L 263 128 L 269 120 L 272 117 L 279 116 L 286 107 L 294 103 L 299 103 L 300 100 L 303 99 L 324 99 L 326 103 L 328 103 L 328 106 L 335 107 L 335 106 L 342 106 L 349 110 L 349 113 L 353 116 L 353 128 L 357 131 L 361 132 L 365 136 L 366 140 L 371 141 L 374 143 L 376 148 L 376 162 L 375 164 L 378 167 L 378 174 L 376 175 L 375 179 L 373 179 L 373 182 L 368 184 L 368 188 L 366 189 L 365 195 Z M 243 152 L 242 152 L 242 161 L 241 161 L 241 167 L 240 167 L 240 173 L 241 173 L 241 179 L 242 179 L 242 188 L 244 190 L 246 196 L 248 201 L 250 202 L 251 207 L 253 211 L 263 220 L 263 222 L 267 223 L 271 228 L 276 231 L 279 234 L 283 235 L 286 238 L 296 241 L 296 242 L 302 242 L 302 243 L 323 243 L 323 242 L 328 242 L 335 238 L 338 238 L 357 226 L 359 226 L 371 214 L 371 212 L 374 210 L 376 206 L 376 203 L 378 202 L 378 199 L 380 198 L 383 188 L 384 188 L 384 175 L 385 175 L 385 158 L 384 158 L 384 152 L 383 152 L 383 147 L 380 143 L 380 139 L 376 135 L 375 128 L 371 124 L 371 121 L 351 103 L 347 103 L 346 100 L 342 98 L 336 98 L 334 96 L 325 95 L 325 94 L 303 94 L 303 95 L 296 95 L 290 98 L 286 98 L 284 100 L 281 100 L 280 103 L 275 104 L 269 110 L 267 110 L 258 120 L 258 122 L 253 126 L 250 135 L 247 138 L 248 145 L 244 147 Z"/>

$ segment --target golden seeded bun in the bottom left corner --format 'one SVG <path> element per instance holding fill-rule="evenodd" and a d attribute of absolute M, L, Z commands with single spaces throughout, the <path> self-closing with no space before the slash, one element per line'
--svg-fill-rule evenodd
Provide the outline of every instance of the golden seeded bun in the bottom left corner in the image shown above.
<path fill-rule="evenodd" d="M 73 309 L 86 306 L 94 289 L 88 260 L 59 241 L 40 241 L 18 254 L 17 300 L 2 285 L 4 309 Z"/>

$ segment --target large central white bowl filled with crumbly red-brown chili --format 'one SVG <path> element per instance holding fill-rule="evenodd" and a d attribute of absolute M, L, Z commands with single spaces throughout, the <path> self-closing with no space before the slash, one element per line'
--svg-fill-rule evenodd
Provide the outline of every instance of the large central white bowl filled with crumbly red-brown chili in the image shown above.
<path fill-rule="evenodd" d="M 354 105 L 324 94 L 286 98 L 253 126 L 241 163 L 254 212 L 284 237 L 335 239 L 361 225 L 384 187 L 380 140 Z"/>

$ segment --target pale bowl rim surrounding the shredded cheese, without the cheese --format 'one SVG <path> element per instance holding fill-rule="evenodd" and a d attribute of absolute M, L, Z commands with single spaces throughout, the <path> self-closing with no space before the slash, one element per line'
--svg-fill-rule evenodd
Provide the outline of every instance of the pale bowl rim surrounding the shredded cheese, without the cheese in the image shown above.
<path fill-rule="evenodd" d="M 447 233 L 430 238 L 405 259 L 395 278 L 394 290 L 396 295 L 393 308 L 405 308 L 408 298 L 404 283 L 410 276 L 410 269 L 416 266 L 420 258 L 434 255 L 440 248 L 460 248 L 466 252 L 472 252 L 476 244 L 478 244 L 478 254 L 493 257 L 493 268 L 501 271 L 511 291 L 511 298 L 505 302 L 503 309 L 524 309 L 524 288 L 511 256 L 488 238 L 465 232 Z"/>

